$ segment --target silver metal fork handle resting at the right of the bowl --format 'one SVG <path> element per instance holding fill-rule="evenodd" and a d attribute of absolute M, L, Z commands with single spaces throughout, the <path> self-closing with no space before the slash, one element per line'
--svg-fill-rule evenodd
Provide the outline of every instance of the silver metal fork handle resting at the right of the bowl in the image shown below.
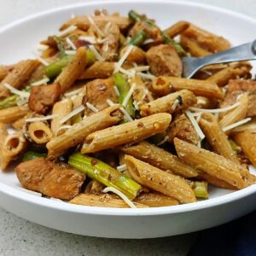
<path fill-rule="evenodd" d="M 256 40 L 251 43 L 241 44 L 239 46 L 218 52 L 213 55 L 198 58 L 198 64 L 201 64 L 202 67 L 204 67 L 211 64 L 250 60 L 256 60 Z"/>

